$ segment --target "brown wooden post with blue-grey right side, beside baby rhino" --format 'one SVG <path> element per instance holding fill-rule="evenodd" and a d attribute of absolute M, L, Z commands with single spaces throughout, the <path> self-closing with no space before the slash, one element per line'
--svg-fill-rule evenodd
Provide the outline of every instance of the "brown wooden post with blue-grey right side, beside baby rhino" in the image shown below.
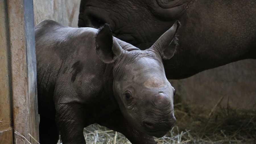
<path fill-rule="evenodd" d="M 36 59 L 32 0 L 8 0 L 9 36 L 13 89 L 14 130 L 35 143 L 38 140 Z M 31 56 L 34 55 L 34 56 Z M 23 138 L 14 136 L 15 142 Z"/>

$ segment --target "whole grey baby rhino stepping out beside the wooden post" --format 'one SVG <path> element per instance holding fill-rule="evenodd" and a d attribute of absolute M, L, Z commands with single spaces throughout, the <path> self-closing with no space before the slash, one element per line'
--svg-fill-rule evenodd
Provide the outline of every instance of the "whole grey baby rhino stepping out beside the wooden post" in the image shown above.
<path fill-rule="evenodd" d="M 174 88 L 162 59 L 176 48 L 176 22 L 140 50 L 100 29 L 36 26 L 40 143 L 85 143 L 84 127 L 98 123 L 133 144 L 156 143 L 174 125 Z M 173 40 L 174 39 L 174 40 Z"/>

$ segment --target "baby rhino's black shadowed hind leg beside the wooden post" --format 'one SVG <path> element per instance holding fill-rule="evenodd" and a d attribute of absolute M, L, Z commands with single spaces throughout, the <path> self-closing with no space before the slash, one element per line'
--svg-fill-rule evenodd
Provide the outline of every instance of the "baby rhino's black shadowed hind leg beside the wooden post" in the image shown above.
<path fill-rule="evenodd" d="M 54 119 L 40 115 L 40 144 L 56 144 L 59 140 L 59 130 Z"/>

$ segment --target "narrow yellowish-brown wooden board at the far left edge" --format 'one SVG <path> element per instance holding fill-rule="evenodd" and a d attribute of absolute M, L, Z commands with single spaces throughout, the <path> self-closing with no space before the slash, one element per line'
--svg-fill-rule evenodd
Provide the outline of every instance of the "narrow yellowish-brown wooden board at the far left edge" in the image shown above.
<path fill-rule="evenodd" d="M 0 143 L 13 143 L 11 60 L 7 1 L 0 0 Z"/>

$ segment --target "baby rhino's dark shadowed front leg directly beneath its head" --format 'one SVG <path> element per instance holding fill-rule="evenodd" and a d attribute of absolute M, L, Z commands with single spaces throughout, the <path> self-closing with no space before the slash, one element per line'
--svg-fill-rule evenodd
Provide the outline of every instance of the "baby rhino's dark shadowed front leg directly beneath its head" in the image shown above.
<path fill-rule="evenodd" d="M 128 121 L 123 117 L 119 110 L 114 111 L 106 117 L 100 118 L 100 121 L 97 123 L 122 133 L 132 144 L 156 144 L 152 136 L 139 132 L 135 130 L 133 126 L 128 124 Z"/>

